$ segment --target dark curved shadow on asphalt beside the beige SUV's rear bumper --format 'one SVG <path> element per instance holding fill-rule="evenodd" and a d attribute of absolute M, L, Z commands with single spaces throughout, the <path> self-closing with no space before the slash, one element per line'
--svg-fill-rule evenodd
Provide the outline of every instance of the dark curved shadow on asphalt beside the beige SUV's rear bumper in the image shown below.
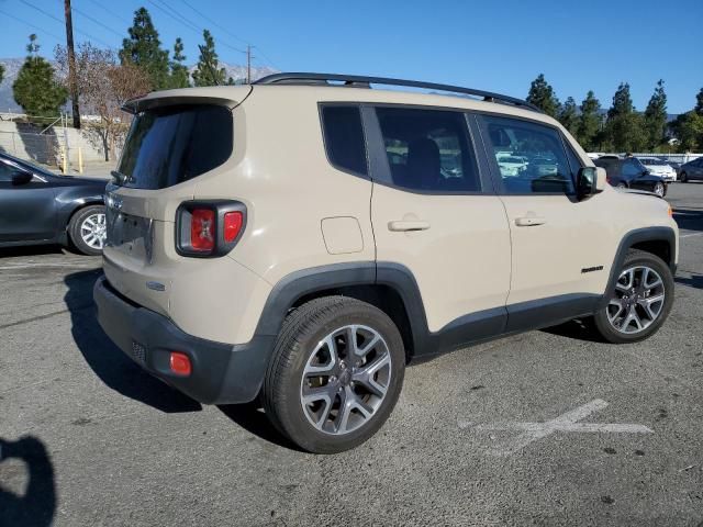
<path fill-rule="evenodd" d="M 132 362 L 103 333 L 96 317 L 92 287 L 101 269 L 68 274 L 64 301 L 70 312 L 71 334 L 92 371 L 112 390 L 166 413 L 198 412 L 197 401 L 149 375 Z"/>

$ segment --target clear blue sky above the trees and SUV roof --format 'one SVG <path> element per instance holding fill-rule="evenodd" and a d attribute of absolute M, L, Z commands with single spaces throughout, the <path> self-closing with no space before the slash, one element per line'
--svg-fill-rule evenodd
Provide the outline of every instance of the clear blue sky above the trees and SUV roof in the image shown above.
<path fill-rule="evenodd" d="M 209 27 L 222 60 L 244 64 L 236 49 L 250 42 L 255 64 L 289 71 L 411 78 L 521 98 L 544 72 L 560 100 L 572 96 L 580 102 L 592 89 L 606 108 L 617 85 L 627 81 L 639 110 L 662 78 L 670 113 L 690 110 L 703 87 L 703 0 L 71 3 L 78 42 L 91 40 L 88 34 L 98 45 L 120 47 L 134 10 L 144 5 L 166 47 L 183 38 L 188 63 L 197 61 L 202 41 L 196 27 Z M 63 42 L 62 23 L 29 4 L 63 19 L 63 0 L 0 0 L 0 57 L 23 56 L 32 32 L 45 55 Z"/>

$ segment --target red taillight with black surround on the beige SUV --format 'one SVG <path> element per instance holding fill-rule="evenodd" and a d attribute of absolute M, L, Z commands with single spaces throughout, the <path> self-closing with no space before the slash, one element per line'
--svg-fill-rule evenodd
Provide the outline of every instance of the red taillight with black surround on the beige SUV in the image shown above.
<path fill-rule="evenodd" d="M 246 206 L 231 200 L 186 201 L 176 212 L 176 251 L 181 256 L 224 256 L 242 237 Z"/>

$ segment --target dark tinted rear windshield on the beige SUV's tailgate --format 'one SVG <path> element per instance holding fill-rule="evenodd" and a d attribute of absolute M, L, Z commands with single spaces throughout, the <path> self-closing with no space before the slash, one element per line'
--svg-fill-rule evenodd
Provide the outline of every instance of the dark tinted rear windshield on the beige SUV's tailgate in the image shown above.
<path fill-rule="evenodd" d="M 232 112 L 225 106 L 147 110 L 132 123 L 118 183 L 137 189 L 171 187 L 219 167 L 232 148 Z"/>

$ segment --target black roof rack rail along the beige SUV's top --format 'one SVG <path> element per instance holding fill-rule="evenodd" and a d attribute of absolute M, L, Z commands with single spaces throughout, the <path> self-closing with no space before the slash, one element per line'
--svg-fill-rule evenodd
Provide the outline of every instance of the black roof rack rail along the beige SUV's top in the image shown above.
<path fill-rule="evenodd" d="M 493 93 L 491 91 L 475 90 L 473 88 L 462 88 L 460 86 L 438 85 L 435 82 L 422 82 L 420 80 L 403 80 L 392 79 L 388 77 L 366 77 L 361 75 L 339 75 L 339 74 L 305 74 L 305 72 L 290 72 L 290 74 L 274 74 L 260 78 L 255 81 L 255 85 L 323 85 L 330 86 L 330 81 L 344 82 L 344 86 L 353 88 L 370 88 L 370 85 L 387 85 L 387 86 L 406 86 L 410 88 L 424 88 L 427 90 L 447 91 L 453 93 L 462 93 L 467 96 L 481 97 L 484 101 L 489 102 L 502 102 L 505 104 L 513 104 L 515 106 L 523 106 L 535 112 L 542 113 L 539 108 L 534 104 L 517 99 L 515 97 L 501 96 L 500 93 Z"/>

